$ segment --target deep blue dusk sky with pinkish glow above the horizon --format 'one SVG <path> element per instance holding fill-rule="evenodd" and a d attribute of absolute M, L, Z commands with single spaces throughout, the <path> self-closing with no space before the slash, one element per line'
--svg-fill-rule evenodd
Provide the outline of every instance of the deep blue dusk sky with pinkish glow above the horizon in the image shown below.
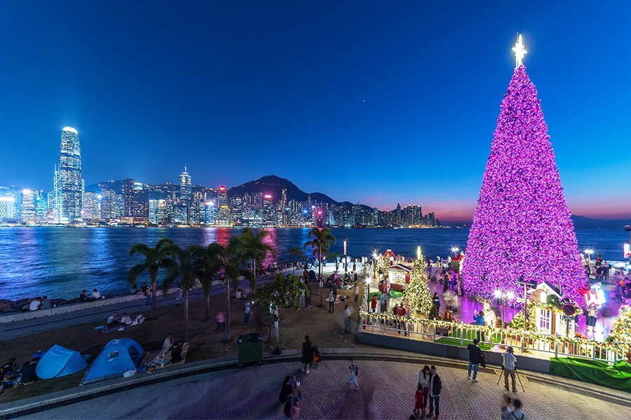
<path fill-rule="evenodd" d="M 0 2 L 0 185 L 275 174 L 473 216 L 523 35 L 573 214 L 631 218 L 630 1 Z"/>

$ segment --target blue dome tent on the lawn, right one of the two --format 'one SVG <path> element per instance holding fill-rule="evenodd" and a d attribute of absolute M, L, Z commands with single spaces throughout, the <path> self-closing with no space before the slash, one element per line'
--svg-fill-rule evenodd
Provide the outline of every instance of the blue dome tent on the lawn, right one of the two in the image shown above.
<path fill-rule="evenodd" d="M 113 339 L 107 343 L 83 377 L 81 385 L 121 377 L 142 361 L 142 346 L 130 338 Z"/>

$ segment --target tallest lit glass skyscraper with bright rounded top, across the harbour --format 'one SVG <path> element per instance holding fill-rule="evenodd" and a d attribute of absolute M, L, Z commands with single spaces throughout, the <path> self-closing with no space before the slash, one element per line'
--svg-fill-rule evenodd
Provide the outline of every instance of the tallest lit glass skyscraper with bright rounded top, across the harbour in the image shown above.
<path fill-rule="evenodd" d="M 81 147 L 79 133 L 72 127 L 64 127 L 62 130 L 58 174 L 60 221 L 68 223 L 81 221 L 83 209 Z"/>

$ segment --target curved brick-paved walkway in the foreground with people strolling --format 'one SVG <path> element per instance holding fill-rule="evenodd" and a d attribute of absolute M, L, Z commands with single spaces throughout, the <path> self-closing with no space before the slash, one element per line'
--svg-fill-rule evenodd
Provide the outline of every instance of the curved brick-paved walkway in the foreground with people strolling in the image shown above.
<path fill-rule="evenodd" d="M 93 384 L 91 390 L 83 386 L 58 393 L 65 393 L 65 397 L 41 397 L 56 400 L 60 407 L 27 400 L 16 404 L 36 407 L 36 412 L 21 417 L 28 419 L 281 419 L 280 384 L 285 375 L 296 375 L 303 392 L 300 419 L 407 419 L 414 406 L 419 369 L 423 364 L 433 364 L 443 383 L 441 419 L 499 418 L 506 392 L 502 384 L 496 385 L 496 370 L 480 370 L 480 381 L 473 384 L 466 377 L 463 362 L 404 352 L 387 356 L 393 353 L 389 350 L 370 355 L 352 352 L 339 349 L 327 355 L 323 351 L 320 367 L 309 374 L 300 371 L 298 352 L 294 351 L 294 361 L 266 361 L 260 366 L 217 371 L 208 371 L 201 363 L 182 365 L 179 370 L 172 367 L 172 372 L 163 369 L 154 374 L 162 377 L 137 375 Z M 359 391 L 346 384 L 348 356 L 355 357 L 360 367 Z M 186 374 L 183 369 L 201 373 Z M 172 379 L 165 380 L 168 377 Z M 520 374 L 520 379 L 524 391 L 518 382 L 519 391 L 510 395 L 522 400 L 531 420 L 625 419 L 629 414 L 631 402 L 617 398 L 616 391 L 597 386 L 574 388 L 567 379 L 526 372 Z M 78 395 L 86 392 L 104 395 Z M 73 398 L 83 400 L 68 404 Z M 7 406 L 0 405 L 0 418 L 16 414 L 6 411 Z"/>

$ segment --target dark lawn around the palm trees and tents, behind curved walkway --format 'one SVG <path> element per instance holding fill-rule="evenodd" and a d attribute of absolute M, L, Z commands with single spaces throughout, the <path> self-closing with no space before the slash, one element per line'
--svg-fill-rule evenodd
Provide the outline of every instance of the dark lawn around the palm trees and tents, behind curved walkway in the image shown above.
<path fill-rule="evenodd" d="M 301 349 L 304 336 L 308 334 L 314 345 L 322 348 L 344 348 L 363 347 L 365 344 L 357 344 L 355 335 L 344 334 L 344 323 L 341 317 L 344 311 L 344 302 L 335 304 L 335 314 L 327 314 L 328 304 L 320 304 L 318 286 L 309 283 L 311 288 L 311 308 L 307 310 L 283 309 L 280 311 L 279 336 L 280 349 Z M 323 289 L 324 290 L 324 289 Z M 358 321 L 358 305 L 352 300 L 353 290 L 339 290 L 338 295 L 350 296 L 347 301 L 353 308 L 353 320 Z M 323 296 L 325 298 L 326 296 Z M 360 295 L 361 297 L 361 295 Z M 196 298 L 189 303 L 189 352 L 186 356 L 186 363 L 198 360 L 208 360 L 212 358 L 236 356 L 236 342 L 239 335 L 248 332 L 263 332 L 266 341 L 264 351 L 271 351 L 276 343 L 268 340 L 270 332 L 269 316 L 265 309 L 252 307 L 250 315 L 250 325 L 243 325 L 243 300 L 231 300 L 231 341 L 223 342 L 223 332 L 214 333 L 216 324 L 214 314 L 218 309 L 225 309 L 225 295 L 218 295 L 210 298 L 210 309 L 212 319 L 204 320 L 205 300 Z M 144 316 L 149 317 L 149 309 L 142 311 Z M 135 317 L 137 314 L 130 314 Z M 82 325 L 76 325 L 61 330 L 51 330 L 36 335 L 20 337 L 2 342 L 0 363 L 5 363 L 9 358 L 18 358 L 20 367 L 22 363 L 29 360 L 33 353 L 39 349 L 48 350 L 53 344 L 67 347 L 68 349 L 79 350 L 82 354 L 92 354 L 93 357 L 103 349 L 104 345 L 111 339 L 128 337 L 139 342 L 145 351 L 161 349 L 162 342 L 168 333 L 172 333 L 175 340 L 182 337 L 184 319 L 184 305 L 173 304 L 168 307 L 158 308 L 155 319 L 147 319 L 140 325 L 126 328 L 124 331 L 113 331 L 104 334 L 100 330 L 94 330 L 99 325 L 104 325 L 105 320 Z M 273 334 L 273 333 L 272 333 Z M 4 360 L 6 359 L 6 360 Z M 88 360 L 88 365 L 93 358 Z M 5 388 L 0 394 L 0 403 L 21 398 L 29 398 L 34 395 L 42 395 L 61 391 L 67 388 L 79 386 L 86 370 L 77 372 L 67 377 L 39 380 L 27 386 L 18 388 Z"/>

